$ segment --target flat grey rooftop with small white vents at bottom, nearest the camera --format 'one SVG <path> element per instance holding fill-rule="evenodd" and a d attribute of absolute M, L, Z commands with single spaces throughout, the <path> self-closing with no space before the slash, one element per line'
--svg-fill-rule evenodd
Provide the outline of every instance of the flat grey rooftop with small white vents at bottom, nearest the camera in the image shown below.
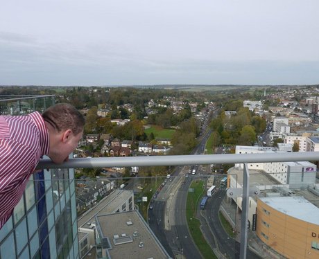
<path fill-rule="evenodd" d="M 103 238 L 110 240 L 110 258 L 170 258 L 137 211 L 99 215 L 96 223 Z"/>

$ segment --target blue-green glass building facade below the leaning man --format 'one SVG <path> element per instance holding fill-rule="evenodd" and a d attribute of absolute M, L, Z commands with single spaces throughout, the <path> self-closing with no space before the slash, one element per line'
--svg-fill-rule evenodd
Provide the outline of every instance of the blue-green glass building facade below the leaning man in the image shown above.
<path fill-rule="evenodd" d="M 78 258 L 73 169 L 43 170 L 31 176 L 0 229 L 0 258 Z"/>

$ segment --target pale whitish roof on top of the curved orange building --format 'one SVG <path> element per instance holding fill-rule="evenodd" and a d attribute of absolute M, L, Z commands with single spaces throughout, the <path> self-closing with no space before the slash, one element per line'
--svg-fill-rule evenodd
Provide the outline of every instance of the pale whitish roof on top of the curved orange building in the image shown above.
<path fill-rule="evenodd" d="M 319 225 L 319 208 L 304 197 L 259 197 L 259 199 L 276 211 Z"/>

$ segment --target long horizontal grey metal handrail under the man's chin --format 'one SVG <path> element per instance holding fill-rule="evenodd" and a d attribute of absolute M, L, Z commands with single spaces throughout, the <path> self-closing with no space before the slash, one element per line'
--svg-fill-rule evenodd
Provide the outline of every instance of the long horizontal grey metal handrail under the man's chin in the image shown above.
<path fill-rule="evenodd" d="M 198 154 L 146 157 L 75 158 L 62 164 L 41 159 L 40 168 L 104 168 L 130 166 L 185 166 L 221 163 L 267 163 L 292 161 L 319 161 L 319 152 L 275 152 L 270 154 Z"/>

